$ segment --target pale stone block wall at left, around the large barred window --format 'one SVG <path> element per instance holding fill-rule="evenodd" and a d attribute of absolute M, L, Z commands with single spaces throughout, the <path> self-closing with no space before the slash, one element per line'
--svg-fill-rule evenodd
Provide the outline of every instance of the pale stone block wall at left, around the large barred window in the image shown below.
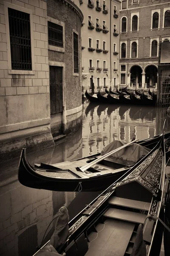
<path fill-rule="evenodd" d="M 26 12 L 30 17 L 32 70 L 12 70 L 8 8 Z M 0 156 L 15 150 L 19 154 L 27 141 L 25 138 L 21 143 L 22 133 L 32 137 L 32 146 L 44 144 L 45 137 L 48 146 L 54 145 L 49 128 L 46 8 L 43 0 L 0 1 Z M 44 134 L 38 129 L 42 125 Z"/>

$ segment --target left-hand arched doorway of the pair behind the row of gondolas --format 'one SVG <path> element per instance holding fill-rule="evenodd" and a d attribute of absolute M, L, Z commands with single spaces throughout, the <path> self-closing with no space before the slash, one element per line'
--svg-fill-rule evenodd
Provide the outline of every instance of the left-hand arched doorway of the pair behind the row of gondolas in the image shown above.
<path fill-rule="evenodd" d="M 130 69 L 130 85 L 133 87 L 142 87 L 142 68 L 133 66 Z"/>

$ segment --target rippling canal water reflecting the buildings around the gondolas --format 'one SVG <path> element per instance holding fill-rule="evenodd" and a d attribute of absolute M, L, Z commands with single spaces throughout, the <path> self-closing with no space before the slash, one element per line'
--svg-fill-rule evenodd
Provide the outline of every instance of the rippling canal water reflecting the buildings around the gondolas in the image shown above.
<path fill-rule="evenodd" d="M 28 154 L 28 161 L 59 163 L 96 154 L 113 140 L 154 136 L 162 132 L 165 115 L 161 108 L 84 102 L 82 128 L 54 148 Z M 0 165 L 0 256 L 31 256 L 44 234 L 44 242 L 50 238 L 55 221 L 47 227 L 61 206 L 71 219 L 100 193 L 27 188 L 17 180 L 18 163 L 17 158 Z"/>

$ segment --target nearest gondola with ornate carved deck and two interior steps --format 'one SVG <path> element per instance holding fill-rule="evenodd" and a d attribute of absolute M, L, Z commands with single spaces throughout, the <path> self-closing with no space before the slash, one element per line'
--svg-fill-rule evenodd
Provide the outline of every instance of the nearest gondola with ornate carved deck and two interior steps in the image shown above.
<path fill-rule="evenodd" d="M 159 256 L 163 226 L 155 217 L 162 214 L 164 169 L 161 136 L 149 154 L 69 222 L 69 235 L 57 252 L 126 256 L 147 250 L 147 256 Z"/>

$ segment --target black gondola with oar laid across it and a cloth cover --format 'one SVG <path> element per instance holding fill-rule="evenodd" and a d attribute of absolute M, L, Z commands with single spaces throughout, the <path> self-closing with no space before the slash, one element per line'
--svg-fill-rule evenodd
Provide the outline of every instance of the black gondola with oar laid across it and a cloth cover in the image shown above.
<path fill-rule="evenodd" d="M 103 155 L 95 154 L 78 160 L 52 165 L 41 163 L 40 166 L 36 165 L 36 167 L 28 163 L 26 149 L 23 149 L 18 169 L 18 180 L 24 186 L 36 189 L 99 191 L 105 189 L 114 180 L 127 172 L 127 169 L 130 169 L 130 166 L 133 166 L 135 161 L 137 162 L 140 157 L 150 151 L 150 148 L 153 148 L 159 138 L 160 135 L 139 141 L 132 146 L 125 145 L 126 147 L 128 146 L 127 151 L 119 151 L 114 155 L 112 149 L 115 150 L 116 148 L 117 150 L 124 143 L 113 141 L 102 151 Z M 136 154 L 136 151 L 139 154 Z"/>

